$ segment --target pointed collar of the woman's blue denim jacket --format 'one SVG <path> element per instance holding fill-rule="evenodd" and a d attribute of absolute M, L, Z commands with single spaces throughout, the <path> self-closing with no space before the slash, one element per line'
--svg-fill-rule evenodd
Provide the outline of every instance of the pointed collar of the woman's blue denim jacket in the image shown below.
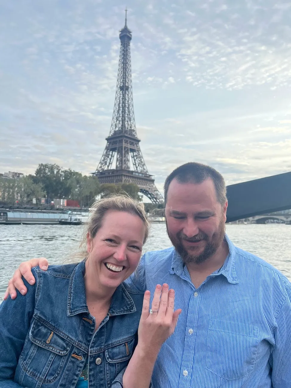
<path fill-rule="evenodd" d="M 81 262 L 74 268 L 68 291 L 67 315 L 76 315 L 80 313 L 89 313 L 86 301 L 86 290 L 84 282 L 85 262 Z M 120 315 L 135 312 L 135 304 L 121 283 L 114 291 L 109 307 L 110 315 Z"/>

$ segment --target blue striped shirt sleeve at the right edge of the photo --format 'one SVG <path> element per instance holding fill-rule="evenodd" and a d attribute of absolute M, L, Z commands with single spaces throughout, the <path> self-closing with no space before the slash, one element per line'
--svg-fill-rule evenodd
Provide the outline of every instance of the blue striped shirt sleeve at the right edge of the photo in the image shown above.
<path fill-rule="evenodd" d="M 291 387 L 291 287 L 277 314 L 275 347 L 271 355 L 273 388 Z"/>

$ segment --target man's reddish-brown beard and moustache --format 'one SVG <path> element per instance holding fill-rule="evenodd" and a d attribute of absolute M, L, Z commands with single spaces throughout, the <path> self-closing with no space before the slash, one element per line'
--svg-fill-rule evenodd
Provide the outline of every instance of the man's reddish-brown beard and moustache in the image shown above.
<path fill-rule="evenodd" d="M 221 219 L 219 227 L 218 227 L 217 231 L 213 234 L 211 240 L 207 236 L 207 234 L 205 234 L 203 232 L 199 232 L 198 234 L 196 234 L 196 236 L 193 236 L 193 237 L 187 237 L 184 233 L 179 232 L 179 233 L 177 233 L 176 238 L 174 240 L 169 234 L 167 222 L 166 222 L 166 227 L 167 227 L 168 237 L 171 240 L 171 243 L 175 247 L 176 251 L 178 253 L 180 253 L 180 256 L 182 257 L 185 264 L 189 264 L 189 263 L 201 264 L 201 263 L 205 262 L 208 258 L 210 258 L 211 256 L 213 256 L 215 254 L 217 249 L 222 244 L 222 241 L 223 241 L 223 238 L 225 235 L 225 223 L 224 223 L 223 218 Z M 203 252 L 201 252 L 199 255 L 196 255 L 195 254 L 196 247 L 193 247 L 194 248 L 193 253 L 192 252 L 189 253 L 184 248 L 184 246 L 182 244 L 182 240 L 186 240 L 186 241 L 204 240 L 204 241 L 206 241 L 206 246 L 205 246 Z"/>

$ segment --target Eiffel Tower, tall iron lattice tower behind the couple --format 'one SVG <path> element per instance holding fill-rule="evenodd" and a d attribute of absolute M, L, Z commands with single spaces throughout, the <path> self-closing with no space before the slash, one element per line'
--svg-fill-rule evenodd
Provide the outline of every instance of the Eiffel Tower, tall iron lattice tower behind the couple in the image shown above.
<path fill-rule="evenodd" d="M 163 203 L 163 197 L 147 171 L 140 151 L 132 97 L 130 41 L 132 33 L 126 25 L 120 30 L 120 55 L 113 116 L 107 144 L 96 171 L 102 183 L 133 183 L 152 203 Z M 114 162 L 114 163 L 113 163 Z M 115 164 L 115 168 L 114 167 Z"/>

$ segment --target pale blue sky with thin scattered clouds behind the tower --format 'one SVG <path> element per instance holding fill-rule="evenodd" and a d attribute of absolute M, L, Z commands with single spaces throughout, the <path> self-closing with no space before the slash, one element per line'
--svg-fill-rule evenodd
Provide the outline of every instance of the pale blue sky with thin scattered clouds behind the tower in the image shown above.
<path fill-rule="evenodd" d="M 95 171 L 125 6 L 137 133 L 160 190 L 188 161 L 227 184 L 291 170 L 291 2 L 14 0 L 0 14 L 0 172 Z"/>

